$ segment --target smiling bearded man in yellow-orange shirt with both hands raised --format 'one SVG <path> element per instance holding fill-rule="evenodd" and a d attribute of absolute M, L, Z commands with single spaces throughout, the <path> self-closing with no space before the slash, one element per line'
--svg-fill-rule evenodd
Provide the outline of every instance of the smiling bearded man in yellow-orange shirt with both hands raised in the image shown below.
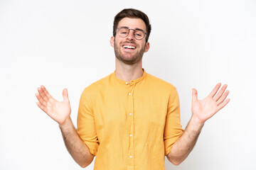
<path fill-rule="evenodd" d="M 182 130 L 176 88 L 142 69 L 150 31 L 142 11 L 129 8 L 115 16 L 110 44 L 116 69 L 82 92 L 78 130 L 70 119 L 67 89 L 59 102 L 44 86 L 38 88 L 38 107 L 59 124 L 65 146 L 80 166 L 88 166 L 96 155 L 95 169 L 165 169 L 165 156 L 181 164 L 206 120 L 230 101 L 225 99 L 227 85 L 220 89 L 217 84 L 202 101 L 193 89 L 193 114 Z"/>

